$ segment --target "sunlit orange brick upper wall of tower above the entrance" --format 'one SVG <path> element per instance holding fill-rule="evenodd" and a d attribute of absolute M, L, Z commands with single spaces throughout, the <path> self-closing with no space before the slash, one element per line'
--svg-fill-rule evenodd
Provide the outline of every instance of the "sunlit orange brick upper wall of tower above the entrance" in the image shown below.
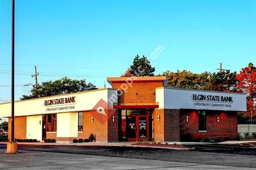
<path fill-rule="evenodd" d="M 127 89 L 118 97 L 119 103 L 153 103 L 155 102 L 155 88 L 163 87 L 163 82 L 133 82 L 131 86 L 125 82 L 112 82 L 112 88 Z M 136 95 L 138 93 L 138 95 Z"/>

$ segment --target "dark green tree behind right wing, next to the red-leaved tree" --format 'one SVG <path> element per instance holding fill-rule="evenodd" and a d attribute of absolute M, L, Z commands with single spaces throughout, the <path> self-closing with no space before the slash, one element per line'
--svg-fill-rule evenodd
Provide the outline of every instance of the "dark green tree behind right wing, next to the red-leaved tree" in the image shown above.
<path fill-rule="evenodd" d="M 212 91 L 236 92 L 238 90 L 237 82 L 236 71 L 219 71 L 210 75 L 209 89 Z"/>

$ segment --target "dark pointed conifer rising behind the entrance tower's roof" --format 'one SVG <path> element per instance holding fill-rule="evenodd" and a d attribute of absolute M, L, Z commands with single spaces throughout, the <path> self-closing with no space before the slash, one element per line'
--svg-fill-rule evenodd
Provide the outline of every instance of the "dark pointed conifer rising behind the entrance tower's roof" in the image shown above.
<path fill-rule="evenodd" d="M 155 68 L 151 66 L 150 61 L 145 56 L 140 58 L 137 54 L 130 68 L 130 73 L 133 77 L 154 76 Z"/>

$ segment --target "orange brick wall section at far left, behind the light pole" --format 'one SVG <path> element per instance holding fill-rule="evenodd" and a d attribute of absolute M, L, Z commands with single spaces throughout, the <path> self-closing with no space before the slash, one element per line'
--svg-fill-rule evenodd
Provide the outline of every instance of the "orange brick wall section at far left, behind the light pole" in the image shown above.
<path fill-rule="evenodd" d="M 8 136 L 11 141 L 12 134 L 12 121 L 9 118 L 8 123 Z M 26 116 L 14 118 L 14 138 L 15 139 L 26 139 Z"/>

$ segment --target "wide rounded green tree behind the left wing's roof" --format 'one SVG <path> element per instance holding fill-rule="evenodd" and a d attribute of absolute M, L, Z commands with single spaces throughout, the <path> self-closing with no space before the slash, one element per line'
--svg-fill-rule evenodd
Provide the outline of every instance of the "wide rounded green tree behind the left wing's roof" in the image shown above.
<path fill-rule="evenodd" d="M 97 89 L 96 86 L 91 83 L 86 84 L 85 79 L 76 80 L 63 77 L 62 79 L 58 79 L 53 82 L 42 82 L 41 85 L 38 85 L 38 88 L 31 90 L 31 95 L 23 95 L 20 100 L 76 93 L 95 89 Z"/>

